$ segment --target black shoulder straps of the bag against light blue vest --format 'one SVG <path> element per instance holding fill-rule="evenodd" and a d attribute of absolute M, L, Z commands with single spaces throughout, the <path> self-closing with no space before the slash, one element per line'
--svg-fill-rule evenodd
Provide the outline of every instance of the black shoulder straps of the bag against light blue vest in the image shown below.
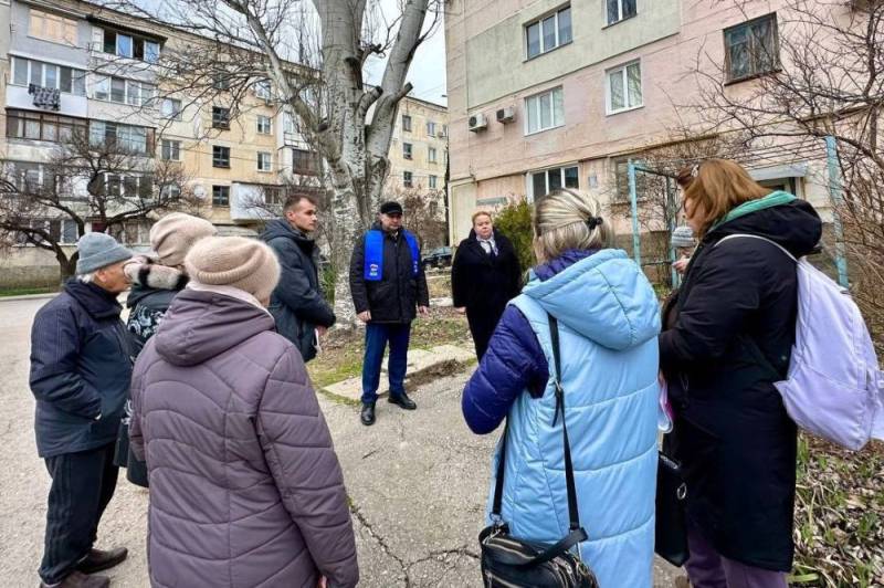
<path fill-rule="evenodd" d="M 561 357 L 559 354 L 559 324 L 556 317 L 547 313 L 549 321 L 549 337 L 552 344 L 552 363 L 555 366 L 555 374 L 552 375 L 554 385 L 556 387 L 556 414 L 552 424 L 556 424 L 559 412 L 561 413 L 561 437 L 565 444 L 565 484 L 568 489 L 568 518 L 570 524 L 570 532 L 567 537 L 559 543 L 547 549 L 544 554 L 538 556 L 534 563 L 548 561 L 561 552 L 570 549 L 575 544 L 586 540 L 587 534 L 580 528 L 580 513 L 577 508 L 577 487 L 573 482 L 573 465 L 571 463 L 571 444 L 568 441 L 568 426 L 565 420 L 565 390 L 561 388 L 559 374 L 561 374 Z M 509 421 L 507 420 L 504 427 L 504 435 L 501 440 L 501 455 L 497 460 L 497 477 L 494 482 L 494 501 L 492 503 L 491 514 L 492 517 L 499 518 L 502 502 L 504 495 L 504 471 L 506 469 L 506 444 L 509 437 Z M 579 533 L 578 533 L 579 532 Z M 570 540 L 570 543 L 568 543 Z M 562 545 L 567 547 L 562 548 Z M 547 559 L 540 559 L 547 556 Z"/>

